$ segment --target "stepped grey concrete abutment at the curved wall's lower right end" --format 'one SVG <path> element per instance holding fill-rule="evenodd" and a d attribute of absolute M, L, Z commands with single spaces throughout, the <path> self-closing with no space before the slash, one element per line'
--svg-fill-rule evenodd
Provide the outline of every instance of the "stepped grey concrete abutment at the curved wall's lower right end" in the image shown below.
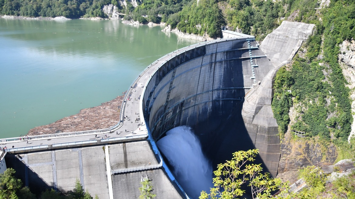
<path fill-rule="evenodd" d="M 273 117 L 271 102 L 276 69 L 271 69 L 261 84 L 251 89 L 245 96 L 242 117 L 251 135 L 255 148 L 272 176 L 277 175 L 280 160 L 280 138 L 278 125 Z"/>

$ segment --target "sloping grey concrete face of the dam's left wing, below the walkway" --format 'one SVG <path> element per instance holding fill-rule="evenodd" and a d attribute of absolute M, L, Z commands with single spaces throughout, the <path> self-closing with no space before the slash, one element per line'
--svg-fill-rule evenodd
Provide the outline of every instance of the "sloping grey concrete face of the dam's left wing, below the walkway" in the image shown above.
<path fill-rule="evenodd" d="M 6 163 L 33 192 L 72 191 L 78 178 L 85 190 L 99 198 L 139 198 L 142 177 L 148 177 L 159 198 L 181 198 L 159 166 L 111 175 L 111 170 L 159 165 L 151 150 L 147 141 L 112 143 L 7 154 Z"/>

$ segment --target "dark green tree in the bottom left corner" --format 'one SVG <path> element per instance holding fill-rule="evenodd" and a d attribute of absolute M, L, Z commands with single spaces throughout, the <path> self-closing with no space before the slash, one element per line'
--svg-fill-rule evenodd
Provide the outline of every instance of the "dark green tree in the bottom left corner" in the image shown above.
<path fill-rule="evenodd" d="M 16 179 L 15 169 L 8 168 L 0 174 L 0 199 L 18 199 L 16 192 L 22 187 L 20 179 Z"/>

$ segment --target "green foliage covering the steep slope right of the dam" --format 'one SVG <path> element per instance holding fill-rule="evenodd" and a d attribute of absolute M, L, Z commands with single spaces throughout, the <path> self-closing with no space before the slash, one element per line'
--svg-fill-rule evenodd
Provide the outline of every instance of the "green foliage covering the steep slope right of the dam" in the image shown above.
<path fill-rule="evenodd" d="M 281 134 L 286 131 L 288 112 L 294 105 L 299 117 L 292 129 L 325 140 L 331 137 L 346 140 L 349 136 L 353 120 L 350 96 L 338 53 L 343 40 L 355 37 L 354 9 L 351 9 L 354 5 L 354 2 L 332 1 L 319 14 L 322 21 L 302 18 L 316 24 L 314 34 L 304 45 L 305 55 L 296 55 L 289 71 L 280 69 L 274 85 L 272 107 Z"/>

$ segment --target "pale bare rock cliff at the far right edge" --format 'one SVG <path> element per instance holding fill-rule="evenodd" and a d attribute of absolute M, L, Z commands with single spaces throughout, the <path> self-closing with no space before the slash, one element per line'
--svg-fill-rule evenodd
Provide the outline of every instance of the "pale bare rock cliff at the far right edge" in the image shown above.
<path fill-rule="evenodd" d="M 343 41 L 340 44 L 340 53 L 338 56 L 339 64 L 343 69 L 345 79 L 348 81 L 348 87 L 350 88 L 350 98 L 353 101 L 351 103 L 351 110 L 355 112 L 355 41 Z M 353 115 L 355 121 L 355 115 Z M 354 122 L 351 125 L 351 136 L 355 136 Z"/>

